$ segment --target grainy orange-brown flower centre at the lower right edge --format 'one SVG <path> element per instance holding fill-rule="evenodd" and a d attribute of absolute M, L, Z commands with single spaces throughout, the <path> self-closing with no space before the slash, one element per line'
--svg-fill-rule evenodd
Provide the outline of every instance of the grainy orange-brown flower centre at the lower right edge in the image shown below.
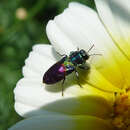
<path fill-rule="evenodd" d="M 130 89 L 115 95 L 112 124 L 118 130 L 130 128 Z"/>

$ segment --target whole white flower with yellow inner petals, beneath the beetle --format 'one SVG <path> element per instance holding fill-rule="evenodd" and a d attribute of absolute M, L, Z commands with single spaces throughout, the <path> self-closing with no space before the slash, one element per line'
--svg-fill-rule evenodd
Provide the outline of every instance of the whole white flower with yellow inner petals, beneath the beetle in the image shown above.
<path fill-rule="evenodd" d="M 128 113 L 130 108 L 130 2 L 95 0 L 95 3 L 98 14 L 79 3 L 70 3 L 62 14 L 48 22 L 47 35 L 52 45 L 33 47 L 23 67 L 24 77 L 14 90 L 15 110 L 28 119 L 10 130 L 112 130 L 114 125 L 127 130 L 126 120 L 119 122 L 124 111 L 117 114 L 116 109 L 124 95 L 127 96 L 121 108 L 127 106 Z M 65 81 L 64 96 L 61 83 L 51 86 L 42 83 L 44 73 L 59 60 L 56 51 L 69 54 L 77 47 L 87 51 L 93 44 L 91 53 L 102 56 L 87 61 L 91 65 L 89 73 L 80 72 L 83 88 L 73 74 Z M 116 114 L 116 118 L 111 114 Z"/>

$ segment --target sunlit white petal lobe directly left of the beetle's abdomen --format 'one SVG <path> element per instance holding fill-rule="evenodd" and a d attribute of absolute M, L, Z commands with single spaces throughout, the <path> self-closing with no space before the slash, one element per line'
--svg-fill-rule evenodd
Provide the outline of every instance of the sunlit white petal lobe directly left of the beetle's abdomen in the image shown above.
<path fill-rule="evenodd" d="M 59 59 L 57 54 L 54 57 L 55 53 L 50 45 L 35 45 L 25 60 L 23 75 L 42 80 L 43 74 Z"/>

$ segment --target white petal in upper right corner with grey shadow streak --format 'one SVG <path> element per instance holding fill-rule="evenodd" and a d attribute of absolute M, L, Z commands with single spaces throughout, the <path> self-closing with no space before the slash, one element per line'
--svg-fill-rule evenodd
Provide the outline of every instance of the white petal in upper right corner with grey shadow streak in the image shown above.
<path fill-rule="evenodd" d="M 100 18 L 116 45 L 130 59 L 130 1 L 95 0 Z"/>

